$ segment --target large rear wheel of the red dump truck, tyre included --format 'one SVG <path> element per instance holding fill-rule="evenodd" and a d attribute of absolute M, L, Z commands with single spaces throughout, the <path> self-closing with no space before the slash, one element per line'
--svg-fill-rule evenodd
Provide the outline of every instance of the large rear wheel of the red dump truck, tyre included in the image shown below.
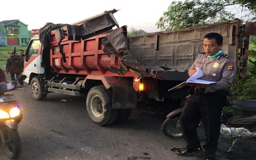
<path fill-rule="evenodd" d="M 111 109 L 112 94 L 104 86 L 90 89 L 86 98 L 86 109 L 92 121 L 100 126 L 113 124 L 118 115 L 118 109 Z"/>

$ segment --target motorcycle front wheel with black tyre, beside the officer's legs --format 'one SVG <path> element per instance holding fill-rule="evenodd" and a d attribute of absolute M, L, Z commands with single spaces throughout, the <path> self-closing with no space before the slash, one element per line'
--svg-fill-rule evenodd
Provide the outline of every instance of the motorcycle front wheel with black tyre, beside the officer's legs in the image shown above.
<path fill-rule="evenodd" d="M 180 115 L 165 119 L 161 126 L 161 131 L 167 137 L 171 137 L 171 138 L 183 137 L 181 126 L 180 126 Z"/>

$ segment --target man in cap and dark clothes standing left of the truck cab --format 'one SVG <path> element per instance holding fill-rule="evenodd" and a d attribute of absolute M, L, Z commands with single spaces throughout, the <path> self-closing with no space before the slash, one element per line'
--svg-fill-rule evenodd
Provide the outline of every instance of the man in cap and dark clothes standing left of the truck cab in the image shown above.
<path fill-rule="evenodd" d="M 7 60 L 6 73 L 10 72 L 12 81 L 15 81 L 15 74 L 19 76 L 23 72 L 23 66 L 21 64 L 20 58 L 15 57 L 14 52 L 8 52 L 10 58 Z M 24 86 L 23 80 L 19 80 L 21 86 Z"/>

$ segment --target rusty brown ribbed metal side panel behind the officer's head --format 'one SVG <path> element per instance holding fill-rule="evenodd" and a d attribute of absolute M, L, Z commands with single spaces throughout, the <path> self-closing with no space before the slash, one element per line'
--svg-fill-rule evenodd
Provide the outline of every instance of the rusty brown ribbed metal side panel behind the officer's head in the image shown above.
<path fill-rule="evenodd" d="M 196 56 L 203 50 L 203 37 L 207 33 L 217 32 L 223 36 L 223 52 L 237 59 L 239 40 L 239 20 L 185 28 L 173 31 L 156 32 L 128 39 L 129 50 L 134 58 L 148 69 L 162 69 L 159 66 L 187 70 L 191 67 Z M 230 35 L 232 29 L 232 35 Z M 230 44 L 231 45 L 228 45 Z"/>

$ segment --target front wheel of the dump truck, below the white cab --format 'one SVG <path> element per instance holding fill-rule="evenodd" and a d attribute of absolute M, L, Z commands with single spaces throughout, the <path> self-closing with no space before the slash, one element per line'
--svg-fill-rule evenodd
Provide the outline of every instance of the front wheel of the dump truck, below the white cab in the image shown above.
<path fill-rule="evenodd" d="M 34 77 L 31 80 L 30 90 L 32 93 L 32 97 L 35 100 L 44 100 L 47 96 L 47 93 L 43 93 L 40 82 L 37 77 Z"/>

